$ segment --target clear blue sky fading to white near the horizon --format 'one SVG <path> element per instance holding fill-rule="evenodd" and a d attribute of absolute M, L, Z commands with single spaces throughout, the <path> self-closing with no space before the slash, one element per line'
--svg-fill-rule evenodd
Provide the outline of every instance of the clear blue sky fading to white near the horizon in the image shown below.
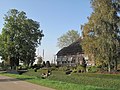
<path fill-rule="evenodd" d="M 44 50 L 44 60 L 52 61 L 60 50 L 57 38 L 68 30 L 77 30 L 81 35 L 80 26 L 87 23 L 92 8 L 90 0 L 1 0 L 0 1 L 0 32 L 4 24 L 4 15 L 10 9 L 26 12 L 28 18 L 38 21 L 44 37 L 37 48 L 37 55 Z"/>

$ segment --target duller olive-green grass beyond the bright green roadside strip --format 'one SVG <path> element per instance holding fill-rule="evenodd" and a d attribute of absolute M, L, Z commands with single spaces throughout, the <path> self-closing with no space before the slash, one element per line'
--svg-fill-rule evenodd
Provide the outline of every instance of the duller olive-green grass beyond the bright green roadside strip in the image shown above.
<path fill-rule="evenodd" d="M 119 74 L 73 73 L 71 75 L 65 75 L 65 72 L 63 71 L 53 71 L 52 73 L 53 74 L 49 76 L 47 80 L 73 83 L 83 86 L 101 87 L 104 89 L 120 89 Z M 41 71 L 34 72 L 31 70 L 30 72 L 25 73 L 25 75 L 34 75 L 41 78 Z"/>

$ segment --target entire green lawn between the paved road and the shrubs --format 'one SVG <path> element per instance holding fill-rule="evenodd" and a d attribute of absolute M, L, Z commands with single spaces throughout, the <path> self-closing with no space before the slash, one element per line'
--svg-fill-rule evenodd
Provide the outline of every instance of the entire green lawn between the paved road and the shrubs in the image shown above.
<path fill-rule="evenodd" d="M 30 70 L 23 75 L 2 74 L 31 83 L 47 86 L 56 90 L 119 90 L 120 75 L 110 74 L 72 74 L 65 75 L 61 71 L 53 71 L 47 79 L 41 79 L 41 71 Z"/>

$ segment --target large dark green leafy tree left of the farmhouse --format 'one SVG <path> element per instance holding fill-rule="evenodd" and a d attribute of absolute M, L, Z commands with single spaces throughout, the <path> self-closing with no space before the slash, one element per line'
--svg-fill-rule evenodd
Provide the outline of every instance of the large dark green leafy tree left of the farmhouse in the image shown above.
<path fill-rule="evenodd" d="M 37 21 L 28 19 L 26 13 L 11 9 L 4 17 L 5 23 L 0 35 L 0 55 L 12 66 L 19 61 L 32 65 L 36 47 L 44 36 Z"/>

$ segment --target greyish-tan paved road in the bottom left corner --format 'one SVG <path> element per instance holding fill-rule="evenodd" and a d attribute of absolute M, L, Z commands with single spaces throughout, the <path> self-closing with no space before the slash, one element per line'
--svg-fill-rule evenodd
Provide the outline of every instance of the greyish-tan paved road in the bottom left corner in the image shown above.
<path fill-rule="evenodd" d="M 53 90 L 7 76 L 0 76 L 0 90 Z"/>

